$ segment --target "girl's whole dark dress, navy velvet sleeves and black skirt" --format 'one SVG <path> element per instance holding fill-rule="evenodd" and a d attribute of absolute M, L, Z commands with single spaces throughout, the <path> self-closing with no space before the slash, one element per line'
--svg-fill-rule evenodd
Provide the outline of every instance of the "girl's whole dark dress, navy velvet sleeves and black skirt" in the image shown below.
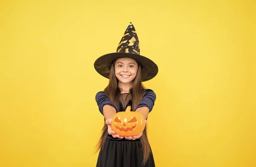
<path fill-rule="evenodd" d="M 103 114 L 103 106 L 105 104 L 113 104 L 110 102 L 109 99 L 106 99 L 107 96 L 105 96 L 105 94 L 102 93 L 103 92 L 97 93 L 96 101 L 98 103 L 100 112 L 102 112 Z M 124 95 L 125 93 L 122 94 L 122 96 Z M 146 90 L 146 93 L 143 96 L 142 102 L 138 106 L 147 106 L 151 111 L 154 106 L 155 99 L 156 96 L 154 92 L 148 89 Z M 132 100 L 128 101 L 126 105 L 124 105 L 123 102 L 120 102 L 119 111 L 125 111 L 125 108 L 131 104 Z M 125 106 L 125 108 L 123 106 Z M 143 152 L 140 139 L 119 139 L 113 138 L 111 135 L 108 135 L 104 147 L 99 151 L 96 167 L 155 167 L 153 153 L 150 153 L 145 166 L 143 166 L 142 163 Z"/>

